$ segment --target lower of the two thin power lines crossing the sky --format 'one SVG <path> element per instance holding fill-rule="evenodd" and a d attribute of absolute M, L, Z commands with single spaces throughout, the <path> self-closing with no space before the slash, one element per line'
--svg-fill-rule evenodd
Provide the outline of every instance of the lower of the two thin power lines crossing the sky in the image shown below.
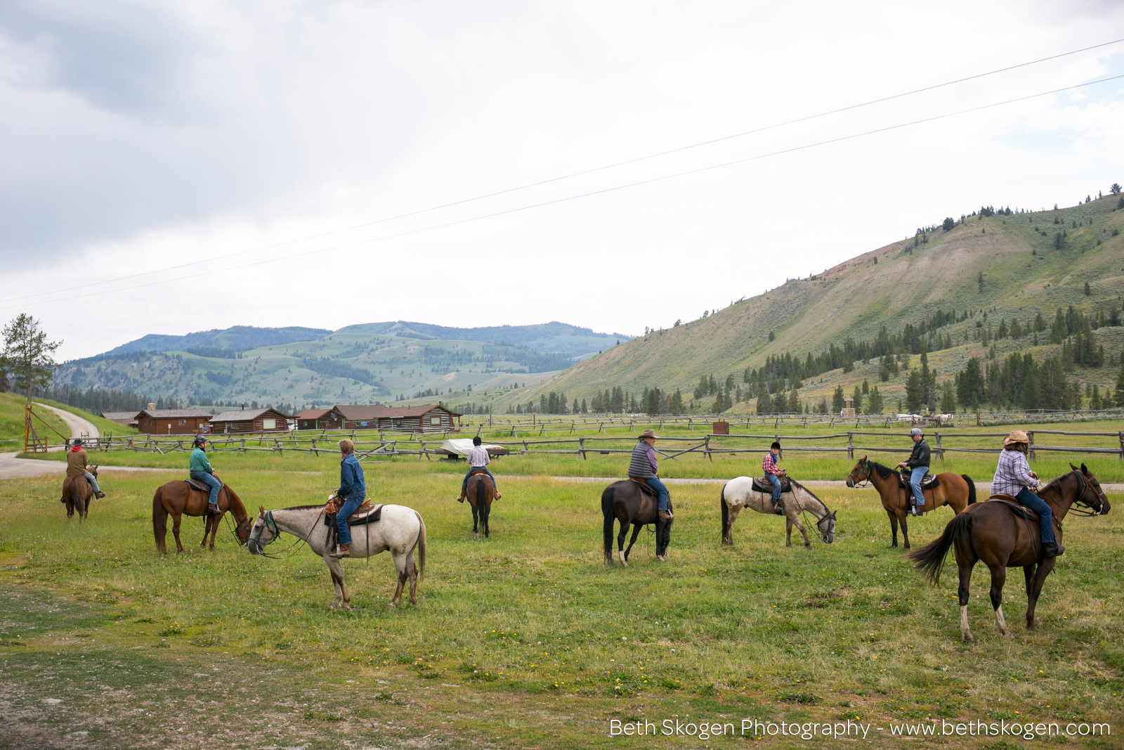
<path fill-rule="evenodd" d="M 285 255 L 285 256 L 282 256 L 282 257 L 270 257 L 270 259 L 265 259 L 265 260 L 261 260 L 261 261 L 255 261 L 253 263 L 245 263 L 243 265 L 235 265 L 235 266 L 227 268 L 227 269 L 220 269 L 220 271 L 221 272 L 238 271 L 238 270 L 242 270 L 242 269 L 254 268 L 254 266 L 257 266 L 257 265 L 266 265 L 269 263 L 280 263 L 280 262 L 283 262 L 283 261 L 290 261 L 290 260 L 294 260 L 294 259 L 298 259 L 298 257 L 307 257 L 309 255 L 316 255 L 316 254 L 319 254 L 319 253 L 327 253 L 327 252 L 332 252 L 334 250 L 348 250 L 348 249 L 352 249 L 352 247 L 357 247 L 360 245 L 370 244 L 372 242 L 384 242 L 384 241 L 388 241 L 388 240 L 397 240 L 397 238 L 406 237 L 406 236 L 409 236 L 409 235 L 420 234 L 423 232 L 432 232 L 434 229 L 443 229 L 443 228 L 447 228 L 447 227 L 452 227 L 452 226 L 457 226 L 460 224 L 469 224 L 471 222 L 480 222 L 480 220 L 483 220 L 483 219 L 496 218 L 498 216 L 506 216 L 508 214 L 516 214 L 516 213 L 519 213 L 519 211 L 531 210 L 533 208 L 543 208 L 545 206 L 554 206 L 554 205 L 568 202 L 568 201 L 571 201 L 571 200 L 578 200 L 578 199 L 581 199 L 581 198 L 590 198 L 592 196 L 600 196 L 600 195 L 605 195 L 605 193 L 608 193 L 608 192 L 615 192 L 615 191 L 618 191 L 618 190 L 627 190 L 629 188 L 637 188 L 637 187 L 645 186 L 645 184 L 653 184 L 655 182 L 663 182 L 665 180 L 673 180 L 673 179 L 681 178 L 681 177 L 687 177 L 687 175 L 690 175 L 690 174 L 699 174 L 699 173 L 703 173 L 703 172 L 709 172 L 711 170 L 717 170 L 717 169 L 722 169 L 722 168 L 725 168 L 725 166 L 734 166 L 736 164 L 745 164 L 745 163 L 749 163 L 749 162 L 760 161 L 762 159 L 769 159 L 771 156 L 780 156 L 782 154 L 791 154 L 791 153 L 795 153 L 795 152 L 798 152 L 798 151 L 806 151 L 808 148 L 816 148 L 818 146 L 826 146 L 826 145 L 831 145 L 833 143 L 842 143 L 844 141 L 852 141 L 854 138 L 861 138 L 861 137 L 865 137 L 865 136 L 869 136 L 869 135 L 877 135 L 879 133 L 887 133 L 889 130 L 897 130 L 897 129 L 905 128 L 905 127 L 910 127 L 910 126 L 914 126 L 914 125 L 922 125 L 922 124 L 925 124 L 925 123 L 934 123 L 936 120 L 948 119 L 950 117 L 958 117 L 960 115 L 968 115 L 968 114 L 971 114 L 971 112 L 978 112 L 978 111 L 982 111 L 985 109 L 992 109 L 995 107 L 1003 107 L 1005 105 L 1012 105 L 1012 103 L 1019 102 L 1019 101 L 1027 101 L 1030 99 L 1037 99 L 1040 97 L 1048 97 L 1050 94 L 1061 93 L 1062 91 L 1072 91 L 1073 89 L 1080 89 L 1080 88 L 1085 88 L 1085 87 L 1088 87 L 1088 85 L 1095 85 L 1097 83 L 1106 83 L 1108 81 L 1116 81 L 1116 80 L 1120 80 L 1120 79 L 1124 79 L 1124 74 L 1112 75 L 1109 78 L 1103 78 L 1103 79 L 1098 79 L 1096 81 L 1087 81 L 1085 83 L 1076 83 L 1073 85 L 1063 87 L 1061 89 L 1052 89 L 1050 91 L 1042 91 L 1040 93 L 1032 93 L 1032 94 L 1027 94 L 1025 97 L 1016 97 L 1015 99 L 1006 99 L 1004 101 L 997 101 L 997 102 L 992 102 L 990 105 L 981 105 L 979 107 L 970 107 L 968 109 L 961 109 L 961 110 L 958 110 L 958 111 L 954 111 L 954 112 L 945 112 L 944 115 L 934 115 L 932 117 L 924 117 L 922 119 L 909 120 L 907 123 L 899 123 L 897 125 L 888 125 L 886 127 L 873 128 L 871 130 L 863 130 L 861 133 L 852 133 L 850 135 L 843 135 L 843 136 L 839 136 L 839 137 L 835 137 L 835 138 L 827 138 L 825 141 L 817 141 L 815 143 L 808 143 L 808 144 L 804 144 L 804 145 L 800 145 L 800 146 L 792 146 L 792 147 L 789 147 L 789 148 L 781 148 L 779 151 L 771 151 L 771 152 L 768 152 L 768 153 L 764 153 L 764 154 L 758 154 L 755 156 L 746 156 L 745 159 L 735 159 L 733 161 L 722 162 L 719 164 L 710 164 L 710 165 L 707 165 L 707 166 L 699 166 L 699 168 L 691 169 L 691 170 L 685 170 L 682 172 L 676 172 L 673 174 L 664 174 L 664 175 L 661 175 L 661 177 L 650 178 L 650 179 L 646 179 L 646 180 L 638 180 L 636 182 L 628 182 L 628 183 L 625 183 L 625 184 L 618 184 L 618 186 L 614 186 L 611 188 L 602 188 L 600 190 L 591 190 L 589 192 L 582 192 L 582 193 L 578 193 L 578 195 L 573 195 L 573 196 L 566 196 L 564 198 L 555 198 L 553 200 L 545 200 L 545 201 L 542 201 L 542 202 L 538 202 L 538 204 L 531 204 L 531 205 L 527 205 L 527 206 L 519 206 L 519 207 L 516 207 L 516 208 L 509 208 L 509 209 L 505 209 L 505 210 L 501 210 L 501 211 L 493 211 L 491 214 L 484 214 L 484 215 L 481 215 L 481 216 L 473 216 L 473 217 L 469 217 L 469 218 L 456 219 L 454 222 L 446 222 L 444 224 L 436 224 L 436 225 L 428 226 L 428 227 L 419 227 L 417 229 L 410 229 L 408 232 L 400 232 L 400 233 L 397 233 L 397 234 L 384 235 L 382 237 L 372 237 L 372 238 L 369 238 L 369 240 L 360 240 L 360 241 L 356 241 L 356 242 L 345 243 L 345 244 L 342 244 L 342 245 L 333 245 L 330 247 L 320 247 L 318 250 L 310 250 L 310 251 L 302 252 L 302 253 L 294 253 L 292 255 Z M 170 283 L 172 281 L 187 281 L 188 279 L 197 279 L 199 277 L 210 275 L 211 273 L 217 273 L 217 272 L 218 271 L 201 271 L 199 273 L 193 273 L 193 274 L 190 274 L 190 275 L 176 277 L 174 279 L 163 279 L 163 280 L 160 280 L 160 281 L 149 281 L 149 282 L 146 282 L 146 283 L 134 284 L 132 287 L 118 287 L 118 288 L 115 288 L 115 289 L 105 289 L 102 291 L 91 291 L 91 292 L 87 292 L 84 295 L 73 295 L 71 297 L 64 297 L 64 298 L 61 298 L 61 299 L 44 300 L 42 302 L 29 302 L 29 304 L 26 304 L 26 305 L 13 305 L 13 306 L 0 307 L 0 310 L 16 309 L 18 307 L 26 307 L 27 305 L 44 305 L 44 304 L 47 304 L 47 302 L 70 301 L 70 300 L 75 300 L 75 299 L 83 299 L 85 297 L 96 297 L 96 296 L 99 296 L 99 295 L 107 295 L 107 293 L 110 293 L 110 292 L 128 291 L 128 290 L 132 290 L 132 289 L 140 289 L 140 288 L 144 288 L 144 287 L 153 287 L 153 286 L 156 286 L 156 284 Z M 45 292 L 45 293 L 51 293 L 51 292 Z"/>

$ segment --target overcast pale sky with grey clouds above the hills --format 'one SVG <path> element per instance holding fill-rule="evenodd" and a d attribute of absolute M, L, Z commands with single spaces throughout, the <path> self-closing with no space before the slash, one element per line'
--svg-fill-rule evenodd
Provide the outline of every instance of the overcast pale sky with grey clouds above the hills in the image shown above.
<path fill-rule="evenodd" d="M 62 359 L 230 325 L 670 326 L 1124 182 L 1124 79 L 813 145 L 1122 75 L 1124 43 L 416 211 L 1122 37 L 1109 1 L 8 0 L 0 317 Z"/>

